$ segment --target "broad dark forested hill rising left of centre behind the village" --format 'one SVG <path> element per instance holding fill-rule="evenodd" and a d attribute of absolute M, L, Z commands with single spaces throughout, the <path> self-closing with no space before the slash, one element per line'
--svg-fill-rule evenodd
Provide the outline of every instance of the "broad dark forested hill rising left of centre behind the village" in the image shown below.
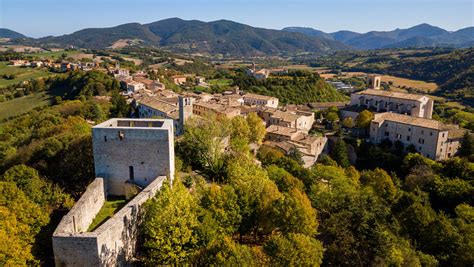
<path fill-rule="evenodd" d="M 144 25 L 129 23 L 111 28 L 84 29 L 59 37 L 38 39 L 36 42 L 102 49 L 119 40 L 135 40 L 143 45 L 165 47 L 177 52 L 243 56 L 324 53 L 349 48 L 333 40 L 255 28 L 228 20 L 203 22 L 179 18 Z"/>

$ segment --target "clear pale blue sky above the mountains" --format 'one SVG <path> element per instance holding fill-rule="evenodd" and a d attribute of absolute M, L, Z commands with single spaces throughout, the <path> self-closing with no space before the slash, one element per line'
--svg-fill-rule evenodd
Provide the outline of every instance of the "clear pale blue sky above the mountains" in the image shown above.
<path fill-rule="evenodd" d="M 474 0 L 0 0 L 0 28 L 30 37 L 171 17 L 325 32 L 386 31 L 421 23 L 454 31 L 474 26 Z"/>

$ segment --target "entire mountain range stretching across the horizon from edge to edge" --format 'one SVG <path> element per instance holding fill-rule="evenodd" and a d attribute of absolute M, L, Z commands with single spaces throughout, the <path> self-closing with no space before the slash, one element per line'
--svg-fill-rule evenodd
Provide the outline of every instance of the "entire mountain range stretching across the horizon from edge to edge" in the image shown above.
<path fill-rule="evenodd" d="M 409 29 L 357 33 L 325 33 L 304 27 L 264 29 L 229 21 L 203 22 L 170 18 L 149 24 L 128 23 L 110 28 L 88 28 L 62 36 L 38 39 L 0 29 L 0 37 L 12 42 L 42 46 L 76 46 L 105 49 L 144 45 L 173 52 L 265 56 L 298 53 L 327 53 L 338 50 L 474 45 L 474 27 L 448 32 L 420 24 Z"/>

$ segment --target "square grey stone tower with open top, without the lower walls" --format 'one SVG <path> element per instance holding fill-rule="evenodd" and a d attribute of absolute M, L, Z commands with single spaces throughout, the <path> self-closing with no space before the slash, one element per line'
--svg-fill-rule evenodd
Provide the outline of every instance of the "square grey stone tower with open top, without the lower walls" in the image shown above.
<path fill-rule="evenodd" d="M 124 196 L 130 183 L 145 188 L 174 176 L 173 120 L 110 119 L 92 127 L 96 177 L 107 195 Z"/>

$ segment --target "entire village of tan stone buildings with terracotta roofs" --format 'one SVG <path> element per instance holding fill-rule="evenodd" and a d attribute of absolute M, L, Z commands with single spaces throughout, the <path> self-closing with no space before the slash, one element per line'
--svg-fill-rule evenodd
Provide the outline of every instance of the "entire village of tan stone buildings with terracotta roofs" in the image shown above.
<path fill-rule="evenodd" d="M 302 153 L 306 167 L 312 166 L 321 153 L 327 153 L 328 137 L 335 134 L 334 131 L 310 134 L 318 127 L 324 127 L 325 118 L 315 118 L 315 110 L 339 107 L 341 121 L 348 118 L 356 121 L 360 112 L 368 110 L 375 114 L 370 130 L 365 133 L 371 142 L 399 141 L 434 160 L 454 156 L 464 134 L 458 126 L 432 119 L 434 101 L 428 96 L 383 90 L 378 75 L 367 76 L 367 89 L 352 93 L 350 102 L 280 105 L 276 97 L 242 92 L 238 87 L 219 94 L 175 93 L 167 90 L 159 80 L 148 79 L 144 72 L 130 75 L 126 69 L 116 68 L 112 73 L 121 82 L 124 97 L 136 107 L 139 118 L 172 119 L 175 134 L 180 135 L 184 132 L 186 119 L 180 117 L 182 109 L 193 116 L 229 119 L 256 113 L 266 127 L 265 144 L 284 153 L 296 148 Z M 246 73 L 264 80 L 272 73 L 288 73 L 288 70 L 255 70 L 252 65 Z M 173 77 L 176 85 L 189 80 L 206 85 L 204 78 L 195 75 Z"/>

